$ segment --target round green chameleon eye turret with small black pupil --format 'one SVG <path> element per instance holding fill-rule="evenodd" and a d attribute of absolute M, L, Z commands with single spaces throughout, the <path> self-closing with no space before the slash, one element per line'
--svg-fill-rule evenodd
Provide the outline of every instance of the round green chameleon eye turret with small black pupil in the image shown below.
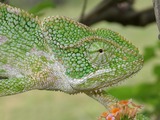
<path fill-rule="evenodd" d="M 87 58 L 93 67 L 102 67 L 108 64 L 112 50 L 111 44 L 105 41 L 95 41 L 87 48 Z"/>

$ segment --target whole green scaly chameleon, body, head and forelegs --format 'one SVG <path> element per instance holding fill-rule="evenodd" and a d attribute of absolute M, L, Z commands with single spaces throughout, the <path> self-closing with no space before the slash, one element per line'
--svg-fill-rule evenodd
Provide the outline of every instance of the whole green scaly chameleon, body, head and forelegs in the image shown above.
<path fill-rule="evenodd" d="M 0 96 L 29 90 L 85 93 L 105 107 L 105 89 L 138 72 L 138 49 L 109 29 L 67 17 L 39 20 L 0 3 Z"/>

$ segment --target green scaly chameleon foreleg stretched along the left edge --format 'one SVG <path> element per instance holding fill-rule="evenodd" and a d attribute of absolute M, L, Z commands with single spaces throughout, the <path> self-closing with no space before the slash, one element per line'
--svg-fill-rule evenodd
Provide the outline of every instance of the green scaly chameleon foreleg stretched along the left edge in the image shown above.
<path fill-rule="evenodd" d="M 0 96 L 13 95 L 31 90 L 34 81 L 25 77 L 0 79 Z"/>

